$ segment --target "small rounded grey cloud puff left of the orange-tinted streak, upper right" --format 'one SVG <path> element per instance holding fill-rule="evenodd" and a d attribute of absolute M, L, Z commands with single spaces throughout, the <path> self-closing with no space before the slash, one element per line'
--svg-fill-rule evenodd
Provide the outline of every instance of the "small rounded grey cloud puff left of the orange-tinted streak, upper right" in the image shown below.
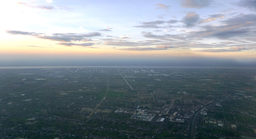
<path fill-rule="evenodd" d="M 195 14 L 195 12 L 189 12 L 185 17 L 183 17 L 182 22 L 186 25 L 186 27 L 192 27 L 196 25 L 199 20 L 200 17 L 198 14 Z"/>

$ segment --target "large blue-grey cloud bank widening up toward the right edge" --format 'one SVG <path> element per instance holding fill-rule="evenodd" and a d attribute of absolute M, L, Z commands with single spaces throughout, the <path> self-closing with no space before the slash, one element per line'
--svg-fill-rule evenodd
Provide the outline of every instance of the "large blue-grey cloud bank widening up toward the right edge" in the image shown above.
<path fill-rule="evenodd" d="M 256 14 L 240 14 L 236 17 L 222 20 L 221 23 L 222 25 L 218 26 L 202 26 L 201 31 L 189 32 L 190 37 L 217 37 L 218 39 L 240 37 L 239 40 L 250 40 L 251 37 L 255 37 Z M 233 41 L 237 41 L 237 39 Z"/>

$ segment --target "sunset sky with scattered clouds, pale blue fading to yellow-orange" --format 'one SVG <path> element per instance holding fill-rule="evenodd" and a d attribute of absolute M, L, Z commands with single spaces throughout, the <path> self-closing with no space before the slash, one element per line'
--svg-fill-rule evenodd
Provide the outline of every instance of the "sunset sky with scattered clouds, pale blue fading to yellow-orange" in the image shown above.
<path fill-rule="evenodd" d="M 256 0 L 0 0 L 0 13 L 0 66 L 256 62 Z"/>

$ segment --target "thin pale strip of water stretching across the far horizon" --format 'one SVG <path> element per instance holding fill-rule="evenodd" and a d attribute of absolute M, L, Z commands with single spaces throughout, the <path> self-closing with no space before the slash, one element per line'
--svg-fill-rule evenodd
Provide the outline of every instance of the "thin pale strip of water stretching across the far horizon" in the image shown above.
<path fill-rule="evenodd" d="M 256 67 L 231 66 L 0 66 L 0 69 L 30 69 L 30 68 L 191 68 L 191 69 L 250 69 Z"/>

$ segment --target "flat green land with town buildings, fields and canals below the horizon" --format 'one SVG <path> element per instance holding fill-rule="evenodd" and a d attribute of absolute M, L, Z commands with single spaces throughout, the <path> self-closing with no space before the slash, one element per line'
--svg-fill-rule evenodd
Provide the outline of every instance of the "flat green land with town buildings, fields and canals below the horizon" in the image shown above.
<path fill-rule="evenodd" d="M 256 69 L 0 69 L 2 139 L 256 139 Z"/>

